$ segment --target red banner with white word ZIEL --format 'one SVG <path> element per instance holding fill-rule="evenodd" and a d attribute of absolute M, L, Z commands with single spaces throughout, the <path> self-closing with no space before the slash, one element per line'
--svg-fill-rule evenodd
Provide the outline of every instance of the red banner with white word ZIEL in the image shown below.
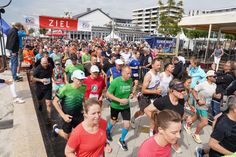
<path fill-rule="evenodd" d="M 74 19 L 39 16 L 40 28 L 77 31 L 77 25 L 78 21 Z"/>

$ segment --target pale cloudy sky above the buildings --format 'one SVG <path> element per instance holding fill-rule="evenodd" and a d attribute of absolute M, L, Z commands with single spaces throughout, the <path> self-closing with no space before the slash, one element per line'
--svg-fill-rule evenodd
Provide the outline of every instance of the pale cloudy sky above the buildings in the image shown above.
<path fill-rule="evenodd" d="M 0 0 L 0 6 L 9 0 Z M 177 0 L 176 0 L 177 1 Z M 236 0 L 183 0 L 185 12 L 189 10 L 210 10 L 236 7 Z M 165 0 L 164 0 L 165 2 Z M 72 15 L 85 12 L 87 8 L 102 8 L 111 17 L 131 18 L 132 10 L 150 7 L 157 0 L 12 0 L 2 15 L 7 22 L 21 22 L 24 16 L 48 15 L 63 16 L 69 11 Z"/>

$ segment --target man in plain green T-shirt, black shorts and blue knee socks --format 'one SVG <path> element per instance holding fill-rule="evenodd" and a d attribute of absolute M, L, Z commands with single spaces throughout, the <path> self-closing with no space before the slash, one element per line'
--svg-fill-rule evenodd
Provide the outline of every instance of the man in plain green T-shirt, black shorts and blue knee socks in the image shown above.
<path fill-rule="evenodd" d="M 122 67 L 122 76 L 113 80 L 107 90 L 106 96 L 111 102 L 111 122 L 108 123 L 106 134 L 107 140 L 112 141 L 111 129 L 117 123 L 118 114 L 121 113 L 124 127 L 121 130 L 121 137 L 118 144 L 124 151 L 128 150 L 125 137 L 130 127 L 130 104 L 129 98 L 132 93 L 131 69 L 128 66 Z"/>

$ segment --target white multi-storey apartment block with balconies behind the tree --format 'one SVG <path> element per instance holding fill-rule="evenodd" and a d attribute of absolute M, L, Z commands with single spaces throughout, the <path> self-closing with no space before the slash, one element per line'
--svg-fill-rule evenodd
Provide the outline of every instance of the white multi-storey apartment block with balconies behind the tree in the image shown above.
<path fill-rule="evenodd" d="M 132 11 L 132 23 L 141 27 L 142 31 L 149 34 L 157 34 L 157 28 L 159 22 L 159 16 L 162 11 L 166 11 L 166 5 L 163 10 L 160 10 L 160 6 L 140 8 Z M 176 17 L 180 8 L 173 7 L 170 10 L 169 16 Z"/>

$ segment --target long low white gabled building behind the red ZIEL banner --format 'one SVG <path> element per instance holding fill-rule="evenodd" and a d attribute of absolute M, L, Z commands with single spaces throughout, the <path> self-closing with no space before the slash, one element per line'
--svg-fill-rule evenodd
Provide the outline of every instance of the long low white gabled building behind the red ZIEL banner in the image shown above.
<path fill-rule="evenodd" d="M 132 24 L 131 19 L 112 18 L 101 9 L 97 8 L 91 10 L 87 9 L 86 12 L 73 16 L 78 21 L 87 21 L 92 25 L 91 31 L 74 31 L 71 34 L 72 38 L 78 39 L 91 39 L 99 37 L 104 39 L 112 30 L 121 38 L 126 41 L 137 41 L 143 39 L 147 34 L 141 31 L 140 27 Z"/>

